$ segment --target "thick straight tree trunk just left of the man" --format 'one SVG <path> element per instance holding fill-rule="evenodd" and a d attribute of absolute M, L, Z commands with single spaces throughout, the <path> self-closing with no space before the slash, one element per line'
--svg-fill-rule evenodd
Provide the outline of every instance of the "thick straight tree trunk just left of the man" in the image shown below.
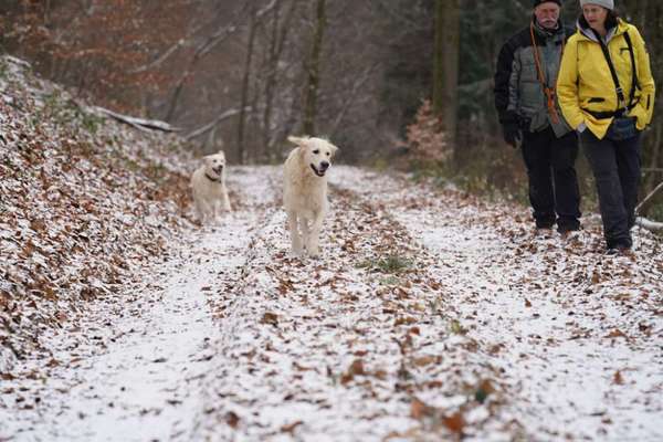
<path fill-rule="evenodd" d="M 455 149 L 460 51 L 460 0 L 435 0 L 433 112 Z"/>

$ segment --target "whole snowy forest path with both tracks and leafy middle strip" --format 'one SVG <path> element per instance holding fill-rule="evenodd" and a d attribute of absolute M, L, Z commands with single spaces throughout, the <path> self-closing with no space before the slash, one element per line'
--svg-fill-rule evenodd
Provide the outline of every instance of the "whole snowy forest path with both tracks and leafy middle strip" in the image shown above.
<path fill-rule="evenodd" d="M 526 208 L 335 166 L 301 259 L 280 175 L 231 169 L 235 212 L 91 312 L 95 351 L 22 381 L 42 399 L 14 440 L 661 438 L 660 240 L 608 256 L 590 222 L 537 234 Z"/>

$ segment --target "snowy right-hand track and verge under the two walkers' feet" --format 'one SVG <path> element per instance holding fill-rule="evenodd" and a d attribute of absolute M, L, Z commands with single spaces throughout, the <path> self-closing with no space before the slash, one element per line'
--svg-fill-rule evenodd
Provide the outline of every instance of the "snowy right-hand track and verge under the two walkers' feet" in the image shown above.
<path fill-rule="evenodd" d="M 608 256 L 596 228 L 535 234 L 526 213 L 356 178 L 336 175 L 390 200 L 392 215 L 436 255 L 445 302 L 503 373 L 508 409 L 532 438 L 663 440 L 660 240 L 636 229 L 632 256 Z"/>

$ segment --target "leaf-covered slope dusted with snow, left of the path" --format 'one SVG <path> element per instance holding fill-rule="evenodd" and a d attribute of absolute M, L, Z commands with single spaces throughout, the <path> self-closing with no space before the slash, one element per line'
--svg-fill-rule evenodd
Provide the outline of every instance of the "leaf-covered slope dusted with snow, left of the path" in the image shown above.
<path fill-rule="evenodd" d="M 0 128 L 2 372 L 83 301 L 164 254 L 186 222 L 189 161 L 176 137 L 101 117 L 9 56 Z"/>

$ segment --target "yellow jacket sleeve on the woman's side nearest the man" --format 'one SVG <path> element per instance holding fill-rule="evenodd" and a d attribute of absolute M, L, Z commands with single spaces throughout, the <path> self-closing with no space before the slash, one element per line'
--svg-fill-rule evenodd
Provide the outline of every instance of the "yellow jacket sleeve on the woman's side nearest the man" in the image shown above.
<path fill-rule="evenodd" d="M 557 76 L 557 98 L 567 123 L 577 129 L 585 122 L 585 115 L 578 98 L 578 41 L 576 39 L 570 39 L 564 50 Z"/>

